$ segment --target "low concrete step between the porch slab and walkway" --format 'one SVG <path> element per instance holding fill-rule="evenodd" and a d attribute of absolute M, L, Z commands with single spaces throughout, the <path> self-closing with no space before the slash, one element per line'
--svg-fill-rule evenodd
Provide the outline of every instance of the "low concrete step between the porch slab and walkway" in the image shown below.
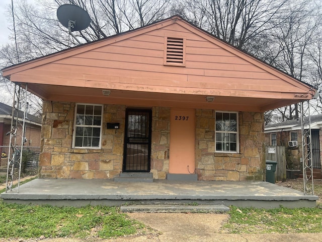
<path fill-rule="evenodd" d="M 124 213 L 198 213 L 198 212 L 226 212 L 225 205 L 128 205 L 121 206 Z"/>

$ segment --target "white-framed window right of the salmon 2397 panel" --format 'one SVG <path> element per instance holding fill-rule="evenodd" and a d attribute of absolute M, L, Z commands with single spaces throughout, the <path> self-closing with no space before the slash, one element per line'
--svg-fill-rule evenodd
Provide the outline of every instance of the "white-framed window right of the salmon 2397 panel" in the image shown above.
<path fill-rule="evenodd" d="M 216 152 L 234 152 L 238 148 L 238 113 L 216 112 Z"/>

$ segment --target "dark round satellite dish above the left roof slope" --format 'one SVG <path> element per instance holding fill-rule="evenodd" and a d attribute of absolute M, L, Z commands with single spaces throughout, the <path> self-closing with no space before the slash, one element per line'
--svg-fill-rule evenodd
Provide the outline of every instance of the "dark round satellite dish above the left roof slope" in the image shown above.
<path fill-rule="evenodd" d="M 57 9 L 57 18 L 65 28 L 68 28 L 69 34 L 81 44 L 71 32 L 81 31 L 90 26 L 91 18 L 88 12 L 76 5 L 64 4 Z"/>

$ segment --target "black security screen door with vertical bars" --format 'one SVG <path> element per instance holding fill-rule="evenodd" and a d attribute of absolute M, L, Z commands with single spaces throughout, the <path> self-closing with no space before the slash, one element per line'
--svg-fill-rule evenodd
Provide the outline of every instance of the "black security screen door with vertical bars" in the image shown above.
<path fill-rule="evenodd" d="M 123 172 L 149 172 L 151 154 L 151 110 L 127 109 Z"/>

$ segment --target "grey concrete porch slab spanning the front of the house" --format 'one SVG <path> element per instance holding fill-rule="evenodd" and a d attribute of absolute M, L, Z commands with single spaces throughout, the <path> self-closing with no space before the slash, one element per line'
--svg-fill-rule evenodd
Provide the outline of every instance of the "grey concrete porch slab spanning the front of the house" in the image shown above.
<path fill-rule="evenodd" d="M 267 183 L 169 181 L 117 183 L 106 179 L 34 179 L 0 196 L 7 203 L 85 206 L 88 204 L 208 204 L 238 207 L 314 207 L 317 196 Z"/>

